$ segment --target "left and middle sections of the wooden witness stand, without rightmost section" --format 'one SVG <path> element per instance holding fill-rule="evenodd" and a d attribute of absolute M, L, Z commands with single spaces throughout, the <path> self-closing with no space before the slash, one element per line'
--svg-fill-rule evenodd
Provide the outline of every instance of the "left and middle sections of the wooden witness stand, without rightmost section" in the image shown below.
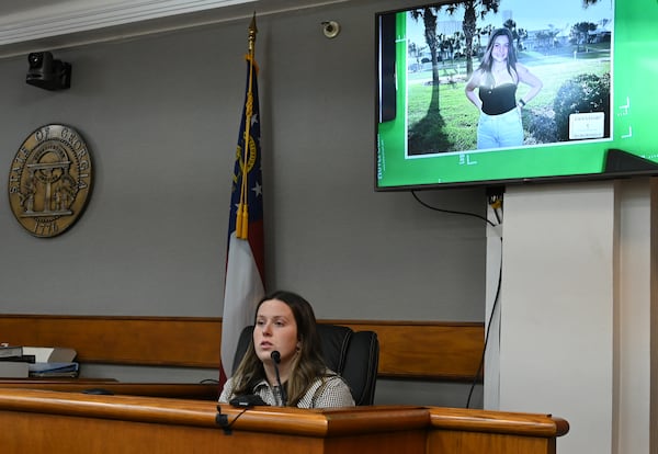
<path fill-rule="evenodd" d="M 0 431 L 0 446 L 3 454 L 419 453 L 429 421 L 422 407 L 222 410 L 235 421 L 231 434 L 217 427 L 215 402 L 0 389 L 0 425 L 11 428 Z"/>

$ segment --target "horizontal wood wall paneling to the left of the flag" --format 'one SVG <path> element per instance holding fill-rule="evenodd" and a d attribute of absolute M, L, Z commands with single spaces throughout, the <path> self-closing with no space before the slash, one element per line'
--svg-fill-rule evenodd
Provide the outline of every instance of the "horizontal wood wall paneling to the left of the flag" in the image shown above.
<path fill-rule="evenodd" d="M 81 363 L 217 367 L 216 318 L 5 315 L 0 342 L 76 349 Z"/>

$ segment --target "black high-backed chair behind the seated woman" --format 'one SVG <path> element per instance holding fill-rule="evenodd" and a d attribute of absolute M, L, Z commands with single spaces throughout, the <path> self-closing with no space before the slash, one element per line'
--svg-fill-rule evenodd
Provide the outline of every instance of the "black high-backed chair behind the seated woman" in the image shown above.
<path fill-rule="evenodd" d="M 252 332 L 253 326 L 250 326 L 240 333 L 232 364 L 234 373 L 251 342 Z M 352 331 L 338 325 L 318 325 L 318 334 L 327 367 L 345 379 L 356 405 L 373 405 L 379 364 L 377 333 Z"/>

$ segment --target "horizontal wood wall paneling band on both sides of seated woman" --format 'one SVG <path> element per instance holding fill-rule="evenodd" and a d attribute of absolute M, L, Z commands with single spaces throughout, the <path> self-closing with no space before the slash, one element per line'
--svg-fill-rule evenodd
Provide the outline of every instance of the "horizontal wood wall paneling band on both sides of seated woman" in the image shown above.
<path fill-rule="evenodd" d="M 484 349 L 483 324 L 320 320 L 376 331 L 379 376 L 473 379 Z M 81 363 L 219 366 L 220 318 L 0 316 L 0 342 L 76 349 Z"/>

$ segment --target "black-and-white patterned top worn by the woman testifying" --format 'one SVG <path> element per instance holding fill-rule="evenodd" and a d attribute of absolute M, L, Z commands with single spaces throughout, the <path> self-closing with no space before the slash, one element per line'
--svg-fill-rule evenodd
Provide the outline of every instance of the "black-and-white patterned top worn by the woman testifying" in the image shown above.
<path fill-rule="evenodd" d="M 232 393 L 234 383 L 232 377 L 229 378 L 224 385 L 222 395 L 219 396 L 220 402 L 228 402 L 230 399 L 236 397 Z M 261 399 L 268 405 L 281 407 L 281 394 L 279 386 L 270 386 L 268 381 L 263 379 L 253 387 L 253 394 L 260 396 Z M 317 377 L 308 390 L 299 401 L 297 402 L 298 408 L 330 408 L 330 407 L 353 407 L 354 399 L 350 387 L 343 381 L 340 375 L 330 373 L 325 377 Z"/>

